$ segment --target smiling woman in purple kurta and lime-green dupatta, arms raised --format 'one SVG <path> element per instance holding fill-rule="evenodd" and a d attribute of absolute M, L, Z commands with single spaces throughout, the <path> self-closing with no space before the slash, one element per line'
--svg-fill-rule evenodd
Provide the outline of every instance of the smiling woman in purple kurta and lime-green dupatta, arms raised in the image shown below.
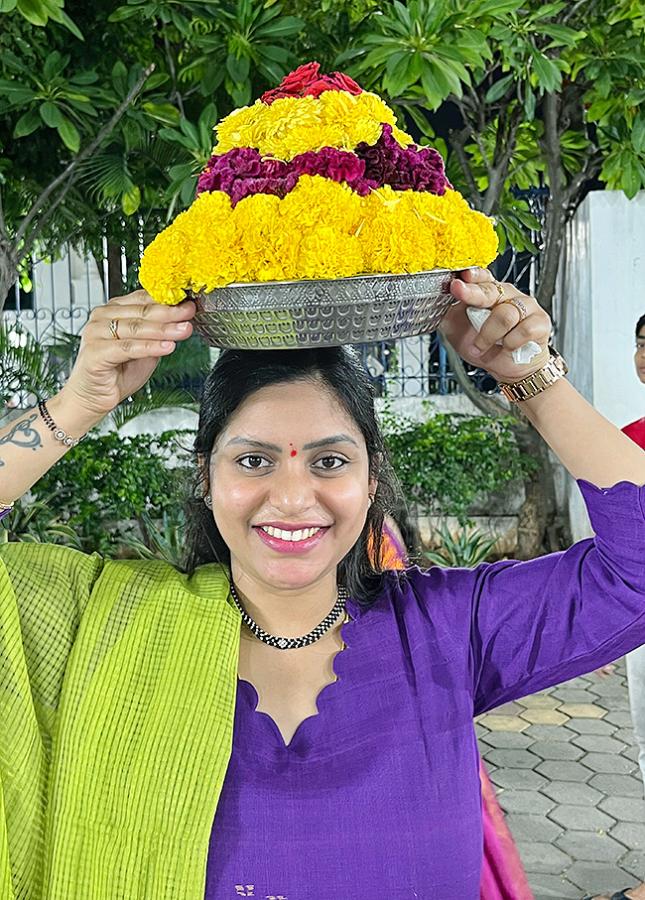
<path fill-rule="evenodd" d="M 2 551 L 0 877 L 14 896 L 479 896 L 473 716 L 645 642 L 645 461 L 546 375 L 551 323 L 534 299 L 488 271 L 451 290 L 446 336 L 534 393 L 523 410 L 579 480 L 597 537 L 529 562 L 379 572 L 367 537 L 378 555 L 397 488 L 353 354 L 223 353 L 201 405 L 186 574 Z M 491 310 L 479 333 L 466 305 Z M 41 408 L 49 428 L 77 439 L 100 421 L 193 313 L 141 294 L 94 311 Z M 516 366 L 529 339 L 540 357 Z M 11 437 L 30 430 L 28 447 Z M 32 411 L 0 432 L 4 502 L 62 455 L 57 436 Z"/>

